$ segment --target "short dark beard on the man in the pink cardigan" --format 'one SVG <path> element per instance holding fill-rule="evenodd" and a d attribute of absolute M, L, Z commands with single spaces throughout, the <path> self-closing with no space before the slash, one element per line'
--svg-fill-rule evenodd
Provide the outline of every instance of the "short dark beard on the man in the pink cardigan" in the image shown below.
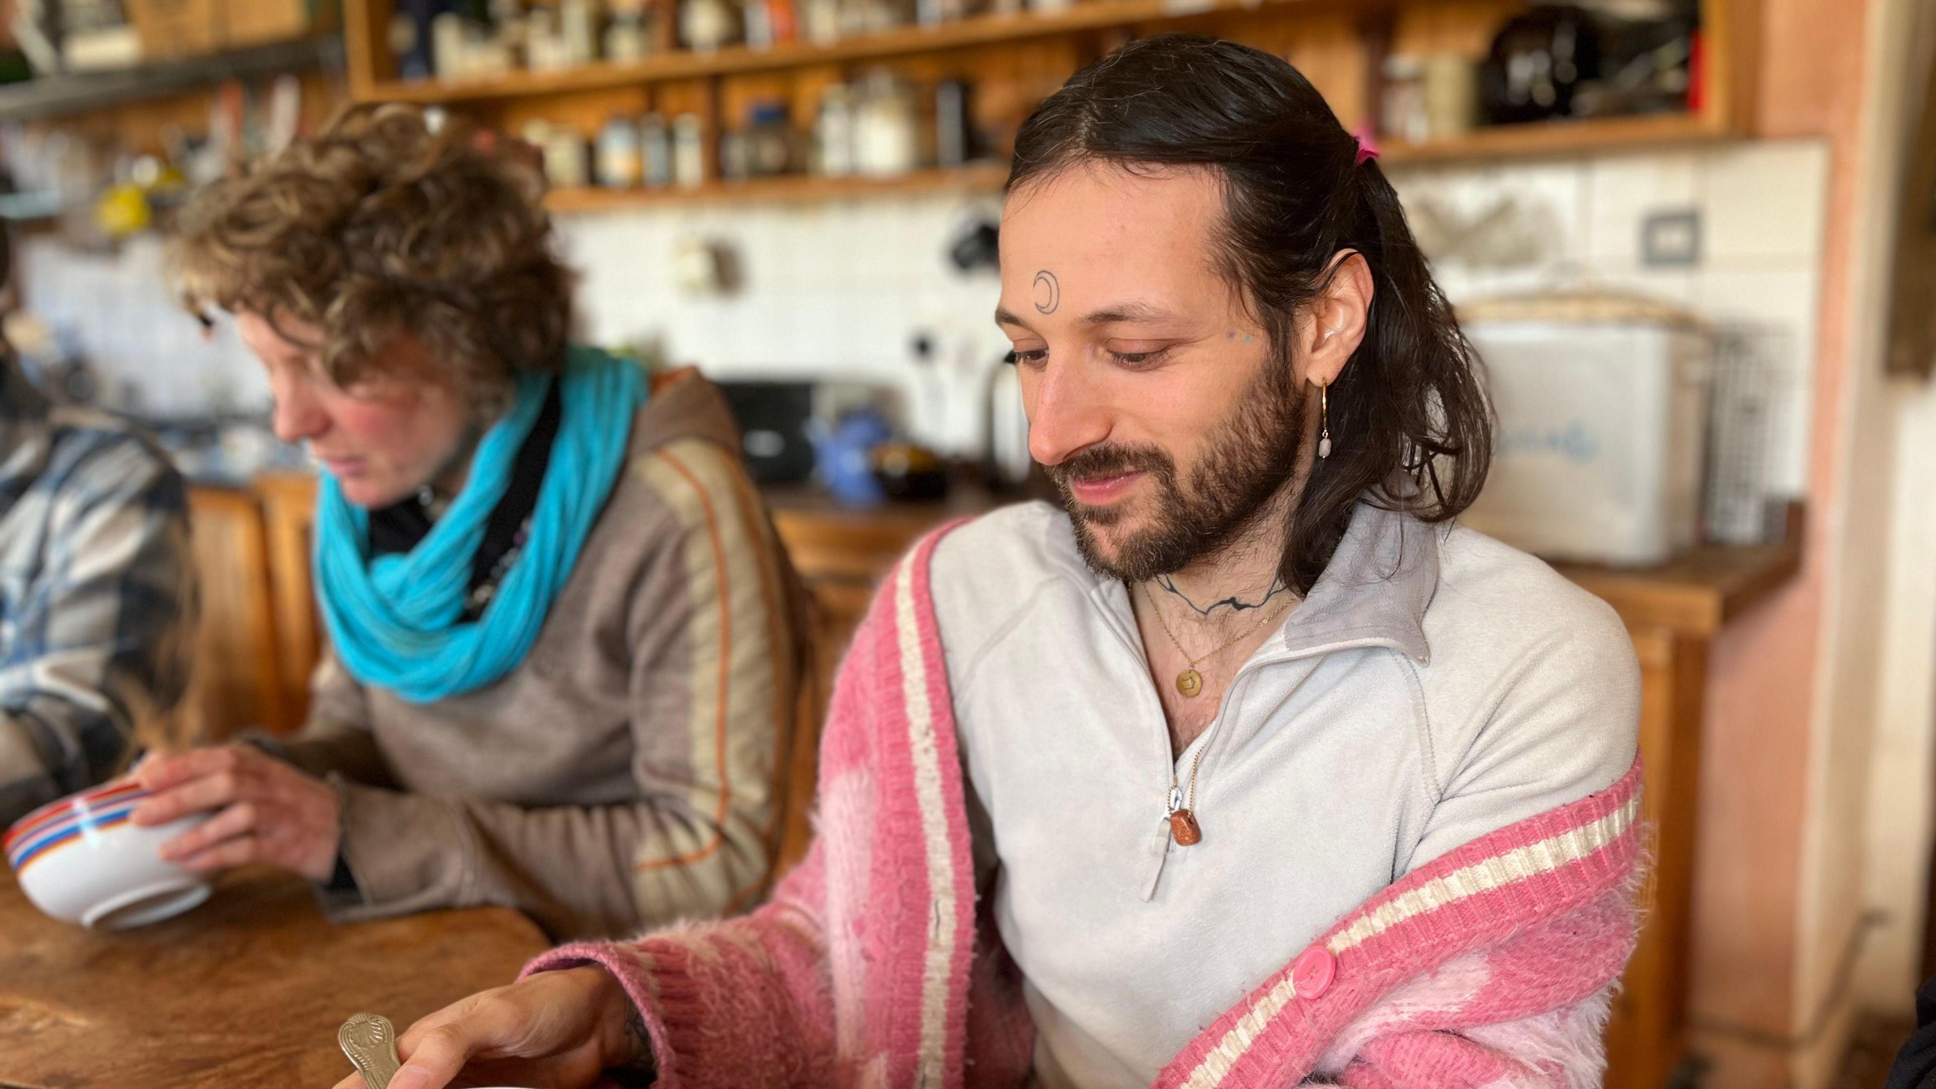
<path fill-rule="evenodd" d="M 1264 366 L 1204 446 L 1204 455 L 1189 475 L 1189 494 L 1177 484 L 1175 459 L 1154 446 L 1094 446 L 1069 461 L 1047 465 L 1074 523 L 1076 548 L 1090 570 L 1129 583 L 1148 581 L 1227 548 L 1251 529 L 1297 471 L 1305 403 L 1295 393 L 1289 366 Z M 1109 558 L 1096 529 L 1115 525 L 1127 513 L 1115 506 L 1092 508 L 1078 502 L 1069 481 L 1127 473 L 1148 473 L 1156 484 L 1156 510 L 1150 529 L 1123 541 Z"/>

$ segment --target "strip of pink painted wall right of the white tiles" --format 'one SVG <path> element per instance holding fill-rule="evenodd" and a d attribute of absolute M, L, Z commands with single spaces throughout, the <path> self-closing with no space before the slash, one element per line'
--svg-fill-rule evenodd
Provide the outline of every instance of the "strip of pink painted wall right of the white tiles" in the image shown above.
<path fill-rule="evenodd" d="M 1849 395 L 1851 271 L 1860 184 L 1860 0 L 1764 0 L 1756 130 L 1830 141 L 1830 209 L 1800 577 L 1713 645 L 1694 887 L 1692 1044 L 1715 1089 L 1789 1077 L 1806 765 L 1824 653 L 1824 587 L 1839 521 Z"/>

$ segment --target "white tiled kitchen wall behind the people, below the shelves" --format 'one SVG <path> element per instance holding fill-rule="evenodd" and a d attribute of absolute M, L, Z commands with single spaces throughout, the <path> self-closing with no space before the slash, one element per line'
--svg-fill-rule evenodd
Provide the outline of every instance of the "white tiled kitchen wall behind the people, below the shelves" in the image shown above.
<path fill-rule="evenodd" d="M 1440 254 L 1446 293 L 1609 285 L 1680 300 L 1779 333 L 1775 486 L 1800 492 L 1822 250 L 1828 155 L 1816 141 L 1709 145 L 1498 167 L 1394 169 L 1413 217 L 1429 203 L 1452 229 L 1510 202 L 1526 234 L 1510 265 Z M 989 271 L 958 273 L 945 252 L 989 196 L 871 198 L 831 203 L 656 207 L 560 219 L 560 248 L 583 273 L 579 310 L 596 343 L 662 339 L 670 357 L 716 376 L 842 376 L 904 391 L 916 432 L 951 450 L 980 442 L 987 368 L 1005 351 L 989 314 Z M 1640 225 L 1655 211 L 1702 217 L 1692 267 L 1649 269 Z M 728 244 L 741 287 L 681 291 L 681 238 Z M 29 240 L 27 302 L 70 331 L 114 380 L 157 411 L 209 397 L 261 403 L 267 389 L 232 333 L 203 341 L 161 283 L 161 248 L 77 256 Z M 929 333 L 922 370 L 910 341 Z"/>

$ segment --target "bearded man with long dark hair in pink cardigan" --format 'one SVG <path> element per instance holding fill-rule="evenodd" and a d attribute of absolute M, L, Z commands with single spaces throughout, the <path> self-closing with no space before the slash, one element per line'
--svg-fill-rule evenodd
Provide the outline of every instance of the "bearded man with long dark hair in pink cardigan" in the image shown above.
<path fill-rule="evenodd" d="M 1373 153 L 1280 58 L 1129 45 L 1016 140 L 995 320 L 1063 504 L 889 577 L 807 862 L 428 1017 L 395 1089 L 1599 1081 L 1638 667 L 1452 527 L 1491 415 Z"/>

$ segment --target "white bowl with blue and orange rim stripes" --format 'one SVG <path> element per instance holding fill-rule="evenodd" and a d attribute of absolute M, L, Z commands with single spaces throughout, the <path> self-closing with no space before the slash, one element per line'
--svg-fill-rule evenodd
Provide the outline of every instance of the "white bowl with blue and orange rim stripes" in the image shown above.
<path fill-rule="evenodd" d="M 147 798 L 134 783 L 108 783 L 41 806 L 0 837 L 8 866 L 35 907 L 64 922 L 128 930 L 209 899 L 209 884 L 159 847 L 209 820 L 188 816 L 136 827 L 128 814 Z"/>

